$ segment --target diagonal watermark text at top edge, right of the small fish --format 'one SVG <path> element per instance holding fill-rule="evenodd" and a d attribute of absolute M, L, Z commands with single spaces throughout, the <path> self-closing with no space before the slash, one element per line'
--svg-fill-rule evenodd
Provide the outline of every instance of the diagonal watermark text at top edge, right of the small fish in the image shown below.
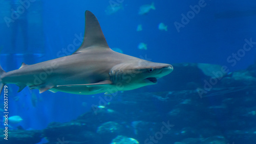
<path fill-rule="evenodd" d="M 185 25 L 187 25 L 191 19 L 193 19 L 196 14 L 198 14 L 201 11 L 201 8 L 204 8 L 207 4 L 204 0 L 199 0 L 198 5 L 192 6 L 190 5 L 189 8 L 191 9 L 185 14 L 181 14 L 181 23 L 175 21 L 174 26 L 178 32 L 180 32 L 180 28 L 184 28 Z"/>

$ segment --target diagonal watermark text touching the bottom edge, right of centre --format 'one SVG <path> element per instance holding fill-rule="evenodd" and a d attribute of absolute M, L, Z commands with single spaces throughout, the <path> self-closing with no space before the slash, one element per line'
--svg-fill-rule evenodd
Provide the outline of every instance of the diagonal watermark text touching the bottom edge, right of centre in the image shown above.
<path fill-rule="evenodd" d="M 167 134 L 174 125 L 169 124 L 169 120 L 166 122 L 162 122 L 163 126 L 160 128 L 160 131 L 156 132 L 155 135 L 151 135 L 149 138 L 144 140 L 144 144 L 154 144 L 158 143 L 164 134 Z"/>

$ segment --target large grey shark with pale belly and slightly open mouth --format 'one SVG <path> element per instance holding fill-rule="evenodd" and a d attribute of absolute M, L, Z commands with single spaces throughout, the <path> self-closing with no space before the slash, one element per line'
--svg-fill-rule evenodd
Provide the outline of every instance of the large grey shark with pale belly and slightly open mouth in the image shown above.
<path fill-rule="evenodd" d="M 71 55 L 26 65 L 5 72 L 0 66 L 1 91 L 15 84 L 45 91 L 91 95 L 112 94 L 157 84 L 157 79 L 173 71 L 173 66 L 113 51 L 106 43 L 96 16 L 85 12 L 81 46 Z"/>

